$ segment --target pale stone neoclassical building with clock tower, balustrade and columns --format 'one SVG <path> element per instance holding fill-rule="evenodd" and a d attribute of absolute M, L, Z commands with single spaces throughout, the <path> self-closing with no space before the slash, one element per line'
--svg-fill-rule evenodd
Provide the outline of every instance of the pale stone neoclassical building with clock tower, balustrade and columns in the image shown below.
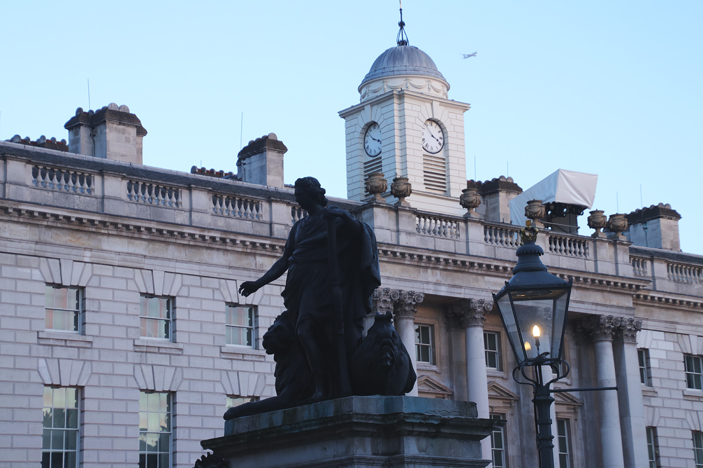
<path fill-rule="evenodd" d="M 507 420 L 484 457 L 534 467 L 531 388 L 512 380 L 491 296 L 515 265 L 508 202 L 522 188 L 477 182 L 481 203 L 460 205 L 469 105 L 448 91 L 420 49 L 382 53 L 360 103 L 340 112 L 349 199 L 330 201 L 375 230 L 374 304 L 415 350 L 412 394 L 477 402 Z M 192 467 L 228 405 L 274 393 L 261 337 L 283 310 L 283 279 L 237 290 L 304 216 L 283 183 L 287 148 L 269 134 L 243 148 L 236 175 L 186 174 L 141 164 L 147 132 L 127 106 L 79 108 L 65 128 L 68 143 L 0 142 L 4 466 Z M 555 458 L 703 466 L 703 257 L 679 252 L 668 205 L 626 217 L 624 235 L 538 237 L 550 273 L 574 280 Z"/>

